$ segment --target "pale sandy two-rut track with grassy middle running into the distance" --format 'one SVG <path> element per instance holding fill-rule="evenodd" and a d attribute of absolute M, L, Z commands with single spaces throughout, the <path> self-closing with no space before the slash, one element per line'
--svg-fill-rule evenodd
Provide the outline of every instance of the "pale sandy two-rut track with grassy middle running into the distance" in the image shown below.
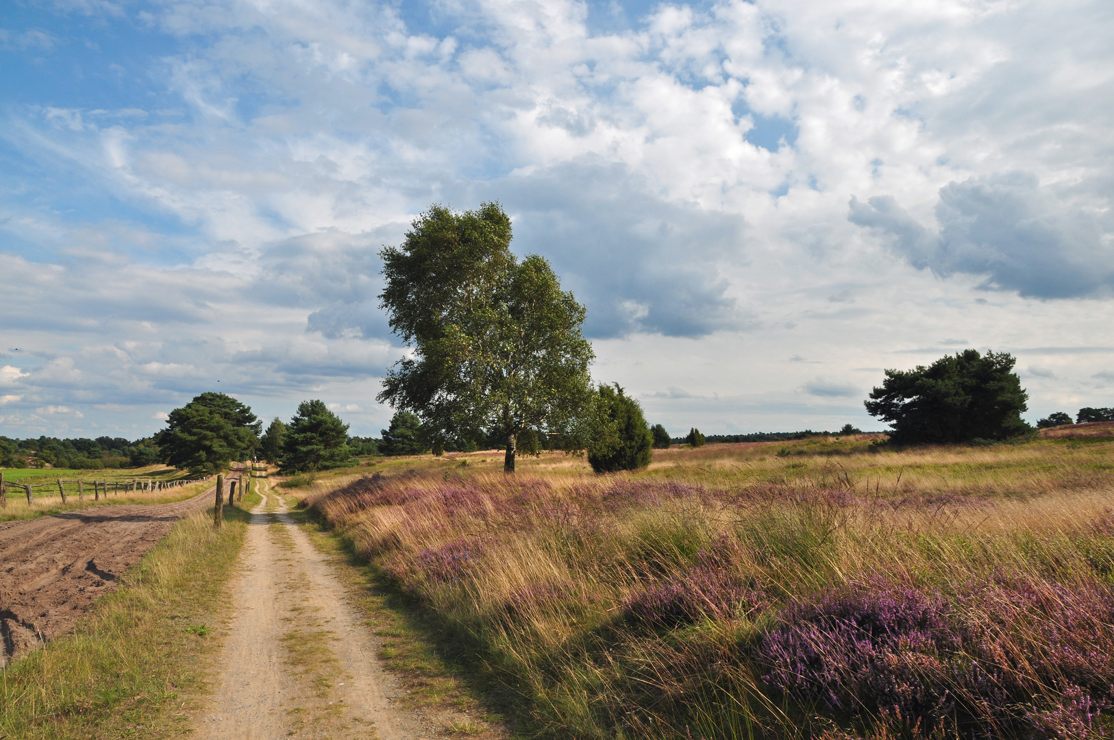
<path fill-rule="evenodd" d="M 265 481 L 252 513 L 216 697 L 196 723 L 213 740 L 424 738 L 325 557 Z M 270 512 L 270 513 L 267 513 Z"/>

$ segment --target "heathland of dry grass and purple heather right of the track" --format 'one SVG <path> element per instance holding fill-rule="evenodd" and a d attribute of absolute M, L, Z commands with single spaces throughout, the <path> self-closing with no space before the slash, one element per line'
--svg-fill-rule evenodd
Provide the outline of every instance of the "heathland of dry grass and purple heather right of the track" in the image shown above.
<path fill-rule="evenodd" d="M 306 503 L 524 733 L 1103 737 L 1111 444 L 870 444 L 413 458 Z"/>

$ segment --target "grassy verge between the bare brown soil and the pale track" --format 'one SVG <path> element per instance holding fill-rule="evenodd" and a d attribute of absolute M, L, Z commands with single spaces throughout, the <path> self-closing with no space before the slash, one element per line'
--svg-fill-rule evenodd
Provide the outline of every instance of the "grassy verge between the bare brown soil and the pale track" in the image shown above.
<path fill-rule="evenodd" d="M 0 672 L 0 740 L 164 738 L 190 731 L 219 648 L 214 624 L 252 494 L 183 519 L 77 631 Z"/>

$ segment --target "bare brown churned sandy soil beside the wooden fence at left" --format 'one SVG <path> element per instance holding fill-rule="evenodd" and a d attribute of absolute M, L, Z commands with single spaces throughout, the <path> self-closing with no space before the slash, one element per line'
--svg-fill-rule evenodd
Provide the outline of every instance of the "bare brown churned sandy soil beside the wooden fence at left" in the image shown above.
<path fill-rule="evenodd" d="M 0 524 L 3 664 L 67 633 L 174 523 L 212 504 L 214 488 L 175 504 L 99 506 Z"/>

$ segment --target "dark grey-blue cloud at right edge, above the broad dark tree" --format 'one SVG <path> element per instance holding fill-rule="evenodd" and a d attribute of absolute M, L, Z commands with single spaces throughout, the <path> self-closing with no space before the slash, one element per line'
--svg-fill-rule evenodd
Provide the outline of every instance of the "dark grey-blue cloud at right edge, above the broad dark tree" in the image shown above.
<path fill-rule="evenodd" d="M 852 197 L 850 221 L 890 237 L 918 269 L 985 278 L 984 288 L 1043 299 L 1108 294 L 1114 288 L 1114 218 L 1108 204 L 1081 204 L 1006 173 L 940 188 L 934 234 L 890 196 Z"/>

